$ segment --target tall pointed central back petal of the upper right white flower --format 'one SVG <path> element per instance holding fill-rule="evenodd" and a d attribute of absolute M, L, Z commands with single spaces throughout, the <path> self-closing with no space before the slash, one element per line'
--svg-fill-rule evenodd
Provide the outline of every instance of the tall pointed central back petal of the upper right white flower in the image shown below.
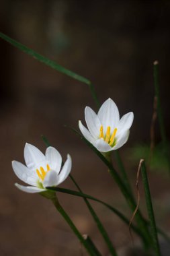
<path fill-rule="evenodd" d="M 103 125 L 104 132 L 107 131 L 108 126 L 116 127 L 120 120 L 118 107 L 111 98 L 101 105 L 97 116 Z"/>

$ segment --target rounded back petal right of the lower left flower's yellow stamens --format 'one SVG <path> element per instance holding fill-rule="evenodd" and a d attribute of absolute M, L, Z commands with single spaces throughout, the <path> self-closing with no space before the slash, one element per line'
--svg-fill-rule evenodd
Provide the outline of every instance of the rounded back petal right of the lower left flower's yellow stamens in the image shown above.
<path fill-rule="evenodd" d="M 60 172 L 62 158 L 60 153 L 55 148 L 48 147 L 46 149 L 46 160 L 50 165 L 50 169 L 55 170 L 57 173 Z"/>

